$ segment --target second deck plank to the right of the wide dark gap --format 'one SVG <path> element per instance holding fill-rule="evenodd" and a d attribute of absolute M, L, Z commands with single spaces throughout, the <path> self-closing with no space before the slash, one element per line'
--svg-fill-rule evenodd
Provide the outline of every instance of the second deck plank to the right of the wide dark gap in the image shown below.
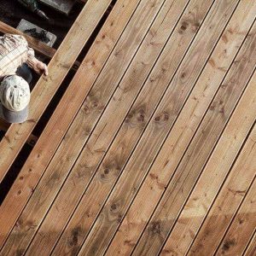
<path fill-rule="evenodd" d="M 137 52 L 137 48 L 147 34 L 148 28 L 154 21 L 154 17 L 157 15 L 162 3 L 163 2 L 159 0 L 157 2 L 154 1 L 154 4 L 148 5 L 148 1 L 143 0 L 139 5 L 137 15 L 134 15 L 134 19 L 132 19 L 126 27 L 126 32 L 123 33 L 122 38 L 113 50 L 113 54 L 103 68 L 99 79 L 96 81 L 93 90 L 90 91 L 87 102 L 84 103 L 84 108 L 79 112 L 79 118 L 75 119 L 73 124 L 76 125 L 77 128 L 73 130 L 73 125 L 71 125 L 70 131 L 73 136 L 67 134 L 64 143 L 62 143 L 58 149 L 57 154 L 59 152 L 61 153 L 61 160 L 55 157 L 49 164 L 42 181 L 38 183 L 38 187 L 33 192 L 31 200 L 28 201 L 26 208 L 17 220 L 17 223 L 20 223 L 20 219 L 26 219 L 26 222 L 24 222 L 23 225 L 15 225 L 14 230 L 11 232 L 3 248 L 3 253 L 24 251 L 28 246 L 28 243 L 37 230 L 32 228 L 29 229 L 30 232 L 28 232 L 28 227 L 38 226 L 39 222 L 44 217 L 50 201 L 54 199 L 58 189 L 61 187 L 61 183 L 63 183 L 67 176 L 70 164 L 71 166 L 73 165 L 76 155 L 79 154 L 79 151 L 73 152 L 73 150 L 77 148 L 80 150 L 83 146 L 84 140 L 80 142 L 82 145 L 79 147 L 78 138 L 81 136 L 84 137 L 84 133 L 87 137 L 90 135 L 90 130 L 92 130 L 93 125 L 95 125 L 96 119 L 100 117 L 104 109 L 104 104 L 108 102 L 108 97 L 111 96 L 114 90 L 114 85 L 119 82 L 132 56 Z M 110 84 L 112 84 L 112 86 L 110 86 Z M 103 85 L 105 88 L 102 87 Z M 93 104 L 93 108 L 91 108 L 90 111 L 91 104 Z M 86 111 L 86 109 L 88 111 Z M 77 121 L 79 125 L 77 125 Z M 82 135 L 80 135 L 80 132 L 82 132 Z M 62 147 L 64 148 L 62 149 Z M 23 236 L 19 236 L 18 234 L 22 234 Z"/>

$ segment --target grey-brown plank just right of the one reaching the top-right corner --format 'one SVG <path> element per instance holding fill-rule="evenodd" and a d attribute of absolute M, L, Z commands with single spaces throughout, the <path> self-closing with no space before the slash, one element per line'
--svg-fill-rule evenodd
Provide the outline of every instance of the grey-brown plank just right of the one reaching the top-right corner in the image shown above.
<path fill-rule="evenodd" d="M 218 142 L 219 135 L 224 130 L 233 109 L 236 107 L 236 102 L 247 86 L 247 80 L 253 73 L 256 61 L 253 57 L 256 51 L 256 45 L 253 44 L 255 29 L 256 26 L 252 32 L 253 36 L 249 37 L 253 39 L 248 40 L 244 55 L 240 55 L 234 63 L 235 70 L 230 73 L 228 79 L 219 88 L 179 166 L 177 166 L 176 171 L 172 170 L 169 174 L 171 182 L 168 184 L 166 194 L 160 201 L 153 217 L 150 218 L 150 223 L 143 231 L 143 236 L 137 244 L 135 254 L 145 253 L 144 250 L 148 250 L 148 253 L 159 252 L 175 223 L 178 212 L 187 200 L 197 178 L 201 175 L 207 159 L 212 154 L 212 148 Z M 158 173 L 153 172 L 151 175 L 158 175 Z M 163 186 L 162 190 L 165 190 L 166 181 L 159 178 L 157 181 Z M 191 231 L 188 235 L 193 236 L 193 234 Z M 150 247 L 148 247 L 149 243 Z"/>

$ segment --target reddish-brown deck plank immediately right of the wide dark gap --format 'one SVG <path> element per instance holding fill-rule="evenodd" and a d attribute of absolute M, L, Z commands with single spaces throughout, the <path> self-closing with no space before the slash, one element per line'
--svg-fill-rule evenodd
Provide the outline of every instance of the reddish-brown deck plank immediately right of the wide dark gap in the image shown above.
<path fill-rule="evenodd" d="M 20 210 L 26 205 L 26 201 L 32 194 L 46 166 L 48 166 L 49 160 L 55 154 L 55 149 L 58 148 L 61 138 L 65 135 L 79 106 L 84 101 L 84 97 L 88 94 L 90 87 L 108 59 L 108 55 L 118 41 L 133 10 L 136 9 L 136 3 L 138 3 L 138 0 L 125 0 L 125 2 L 119 1 L 119 4 L 115 5 L 112 14 L 102 27 L 102 31 L 99 32 L 90 52 L 86 55 L 79 72 L 76 73 L 72 83 L 69 84 L 65 95 L 55 109 L 55 113 L 53 113 L 48 125 L 41 134 L 40 140 L 33 148 L 25 166 L 20 171 L 19 177 L 0 207 L 1 216 L 9 214 L 9 212 L 13 213 L 12 218 L 9 220 L 9 225 L 6 227 L 7 229 L 11 229 L 11 221 L 15 221 L 18 218 Z M 119 19 L 117 19 L 118 15 L 121 15 Z M 102 49 L 100 52 L 98 47 Z M 84 73 L 86 76 L 84 76 Z M 84 86 L 81 86 L 82 84 Z M 73 91 L 79 91 L 79 93 L 73 94 Z M 4 218 L 1 221 L 6 225 Z"/>

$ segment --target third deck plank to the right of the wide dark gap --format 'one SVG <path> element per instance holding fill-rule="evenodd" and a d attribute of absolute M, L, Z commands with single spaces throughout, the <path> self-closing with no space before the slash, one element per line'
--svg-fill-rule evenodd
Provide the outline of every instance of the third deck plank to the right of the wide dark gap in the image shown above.
<path fill-rule="evenodd" d="M 182 14 L 182 10 L 186 5 L 186 2 L 187 1 L 177 0 L 166 1 L 163 9 L 160 12 L 159 18 L 155 20 L 154 25 L 150 29 L 150 32 L 145 38 L 141 48 L 138 50 L 137 55 L 131 62 L 131 67 L 129 67 L 125 77 L 119 84 L 119 88 L 114 93 L 111 101 L 108 103 L 108 107 L 106 108 L 102 119 L 99 121 L 98 125 L 96 125 L 94 130 L 96 137 L 92 135 L 87 142 L 83 153 L 79 156 L 79 160 L 73 167 L 71 176 L 68 177 L 67 183 L 65 183 L 65 185 L 62 187 L 52 209 L 48 212 L 44 223 L 40 227 L 40 230 L 38 230 L 38 234 L 32 241 L 32 245 L 27 251 L 28 253 L 34 253 L 37 250 L 37 244 L 39 242 L 42 247 L 44 247 L 44 245 L 51 247 L 55 244 L 56 238 L 54 236 L 44 236 L 45 239 L 42 239 L 42 234 L 45 234 L 45 232 L 48 233 L 48 230 L 52 229 L 52 225 L 59 219 L 61 219 L 61 221 L 58 221 L 57 226 L 55 225 L 55 229 L 58 231 L 55 231 L 54 233 L 61 235 L 61 230 L 64 228 L 68 217 L 73 212 L 73 209 L 76 207 L 81 195 L 84 192 L 84 185 L 90 180 L 90 173 L 95 172 L 97 163 L 99 160 L 101 160 L 102 154 L 104 153 L 103 148 L 107 149 L 108 144 L 111 143 L 115 131 L 119 128 L 119 123 L 122 123 L 122 119 L 125 118 L 125 114 L 130 108 L 131 102 L 139 92 L 144 80 L 148 76 L 149 71 L 154 66 L 154 61 L 156 61 L 158 55 L 160 55 L 161 49 L 163 49 L 166 44 L 166 40 L 172 34 L 172 27 L 175 26 L 177 19 Z M 152 32 L 154 32 L 154 36 Z M 145 64 L 142 65 L 142 63 Z M 135 77 L 135 73 L 140 74 L 139 78 L 136 80 L 133 79 Z M 128 88 L 131 89 L 128 90 Z M 118 108 L 119 111 L 115 110 L 114 108 Z M 114 115 L 119 113 L 119 118 L 111 118 L 113 113 Z M 138 124 L 141 126 L 140 122 Z M 79 126 L 79 123 L 77 125 Z M 134 126 L 136 125 L 134 124 L 133 127 Z M 105 128 L 104 131 L 100 133 L 102 131 L 102 127 Z M 142 129 L 140 129 L 140 131 L 141 130 Z M 125 131 L 127 131 L 127 129 Z M 98 135 L 99 133 L 100 135 Z M 98 148 L 101 148 L 100 152 L 98 151 Z M 81 166 L 91 166 L 90 172 L 88 172 L 89 170 L 87 168 L 87 175 L 78 175 L 78 173 L 81 173 Z M 102 188 L 98 189 L 100 191 Z M 71 200 L 68 208 L 66 207 L 67 196 Z M 96 206 L 96 204 L 94 204 L 94 206 Z M 80 234 L 80 236 L 82 236 L 82 234 Z M 74 253 L 79 248 L 79 241 L 73 244 L 73 246 L 68 244 L 67 248 L 65 245 L 66 244 L 64 243 L 61 248 L 58 247 L 57 252 Z"/>

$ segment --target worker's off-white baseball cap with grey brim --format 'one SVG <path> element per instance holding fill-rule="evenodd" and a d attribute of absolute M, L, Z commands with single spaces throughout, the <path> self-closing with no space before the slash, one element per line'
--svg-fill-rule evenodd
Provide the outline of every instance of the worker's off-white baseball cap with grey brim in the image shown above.
<path fill-rule="evenodd" d="M 0 85 L 0 101 L 3 117 L 9 123 L 22 123 L 28 115 L 30 102 L 29 84 L 17 75 L 8 76 Z"/>

